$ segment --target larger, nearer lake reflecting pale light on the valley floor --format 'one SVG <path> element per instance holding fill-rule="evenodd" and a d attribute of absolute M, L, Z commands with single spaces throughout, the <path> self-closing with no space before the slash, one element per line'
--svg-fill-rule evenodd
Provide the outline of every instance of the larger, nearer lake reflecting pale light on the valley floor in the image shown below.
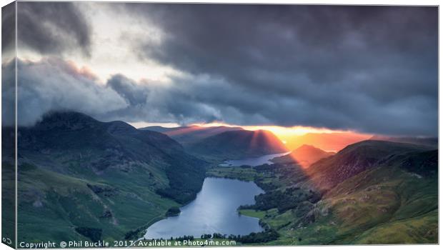
<path fill-rule="evenodd" d="M 254 204 L 254 196 L 262 194 L 252 181 L 208 177 L 196 199 L 180 208 L 181 214 L 149 226 L 146 239 L 169 239 L 202 234 L 247 235 L 263 231 L 259 219 L 239 215 L 241 205 Z"/>

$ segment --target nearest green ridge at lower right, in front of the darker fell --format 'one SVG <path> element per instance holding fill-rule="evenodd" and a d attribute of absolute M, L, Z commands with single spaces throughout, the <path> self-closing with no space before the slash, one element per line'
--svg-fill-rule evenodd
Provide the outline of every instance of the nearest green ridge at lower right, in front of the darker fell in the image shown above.
<path fill-rule="evenodd" d="M 403 154 L 342 181 L 314 206 L 307 229 L 292 224 L 292 234 L 303 244 L 437 243 L 437 156 Z"/>

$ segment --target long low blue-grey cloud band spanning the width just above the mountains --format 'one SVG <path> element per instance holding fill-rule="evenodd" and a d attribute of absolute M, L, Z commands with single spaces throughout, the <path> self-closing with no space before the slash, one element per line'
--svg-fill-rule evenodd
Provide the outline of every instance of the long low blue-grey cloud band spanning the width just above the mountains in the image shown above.
<path fill-rule="evenodd" d="M 9 72 L 12 66 L 4 64 L 4 72 Z M 347 96 L 337 90 L 333 91 L 335 101 L 329 100 L 329 105 L 324 102 L 313 105 L 304 99 L 250 89 L 209 75 L 180 76 L 172 78 L 171 84 L 162 84 L 136 82 L 118 74 L 103 85 L 89 71 L 60 59 L 19 61 L 18 66 L 19 124 L 24 126 L 34 124 L 48 111 L 59 109 L 81 111 L 103 121 L 179 124 L 224 121 L 282 126 L 294 125 L 292 119 L 310 126 L 325 126 L 327 121 L 327 127 L 332 129 L 356 129 L 365 124 L 377 127 L 384 134 L 427 134 L 437 123 L 434 114 L 437 104 L 424 96 L 385 105 L 365 94 Z M 13 74 L 3 77 L 5 82 L 14 82 Z M 327 96 L 330 90 L 329 86 L 320 86 L 315 93 Z M 6 87 L 2 91 L 7 95 L 14 89 Z M 362 106 L 367 110 L 364 113 Z M 407 116 L 426 122 L 412 122 L 405 119 Z"/>

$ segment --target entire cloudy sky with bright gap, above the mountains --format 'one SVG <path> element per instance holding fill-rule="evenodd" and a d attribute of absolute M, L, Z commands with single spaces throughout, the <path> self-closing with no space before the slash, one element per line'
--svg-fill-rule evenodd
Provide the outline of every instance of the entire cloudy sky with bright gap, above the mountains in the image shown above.
<path fill-rule="evenodd" d="M 437 7 L 19 2 L 17 19 L 22 126 L 68 109 L 437 136 Z"/>

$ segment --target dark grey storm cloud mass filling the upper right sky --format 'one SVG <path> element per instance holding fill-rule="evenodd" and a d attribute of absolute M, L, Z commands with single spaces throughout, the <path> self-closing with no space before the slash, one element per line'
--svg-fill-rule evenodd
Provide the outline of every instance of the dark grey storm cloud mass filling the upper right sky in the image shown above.
<path fill-rule="evenodd" d="M 136 48 L 208 76 L 194 99 L 223 121 L 437 135 L 437 7 L 125 7 L 166 34 Z"/>

